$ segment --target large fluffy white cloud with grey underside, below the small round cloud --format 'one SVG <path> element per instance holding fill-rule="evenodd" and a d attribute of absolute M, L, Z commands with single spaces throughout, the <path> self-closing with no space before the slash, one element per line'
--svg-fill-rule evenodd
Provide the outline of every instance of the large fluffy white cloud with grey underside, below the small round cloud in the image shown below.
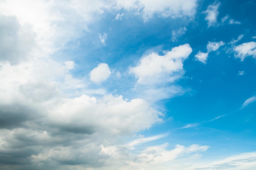
<path fill-rule="evenodd" d="M 64 131 L 124 135 L 161 122 L 159 115 L 160 112 L 150 108 L 146 101 L 139 98 L 128 102 L 122 96 L 107 95 L 97 100 L 95 97 L 82 95 L 64 99 L 62 104 L 49 112 L 49 120 Z"/>

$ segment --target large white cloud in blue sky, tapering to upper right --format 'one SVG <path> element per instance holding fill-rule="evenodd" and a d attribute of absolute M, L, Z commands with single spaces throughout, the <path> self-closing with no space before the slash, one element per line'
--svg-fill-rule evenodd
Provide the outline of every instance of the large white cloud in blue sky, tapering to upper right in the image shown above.
<path fill-rule="evenodd" d="M 164 56 L 151 53 L 143 56 L 137 66 L 130 67 L 130 73 L 135 74 L 139 84 L 172 82 L 182 74 L 183 61 L 191 52 L 190 45 L 185 44 L 166 51 Z"/>

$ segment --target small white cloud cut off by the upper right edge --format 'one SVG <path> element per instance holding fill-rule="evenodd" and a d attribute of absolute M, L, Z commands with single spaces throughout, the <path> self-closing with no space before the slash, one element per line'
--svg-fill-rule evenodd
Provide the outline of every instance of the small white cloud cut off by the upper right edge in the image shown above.
<path fill-rule="evenodd" d="M 256 42 L 245 42 L 241 45 L 234 47 L 235 57 L 240 58 L 241 61 L 247 56 L 256 57 Z"/>

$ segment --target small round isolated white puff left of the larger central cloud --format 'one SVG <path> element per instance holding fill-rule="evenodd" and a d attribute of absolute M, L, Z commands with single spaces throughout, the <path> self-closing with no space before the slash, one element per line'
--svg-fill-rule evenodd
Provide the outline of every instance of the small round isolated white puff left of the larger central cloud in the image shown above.
<path fill-rule="evenodd" d="M 90 72 L 90 80 L 94 83 L 101 83 L 106 81 L 111 75 L 108 64 L 100 63 Z"/>

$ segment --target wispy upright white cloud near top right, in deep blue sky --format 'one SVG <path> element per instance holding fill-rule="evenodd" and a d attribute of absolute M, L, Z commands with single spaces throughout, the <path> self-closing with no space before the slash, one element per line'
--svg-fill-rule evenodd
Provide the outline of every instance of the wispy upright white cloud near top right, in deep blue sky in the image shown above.
<path fill-rule="evenodd" d="M 205 20 L 208 21 L 208 27 L 215 26 L 217 24 L 219 7 L 220 7 L 220 2 L 215 1 L 213 4 L 207 7 L 206 11 L 204 11 L 204 13 L 206 14 Z"/>

